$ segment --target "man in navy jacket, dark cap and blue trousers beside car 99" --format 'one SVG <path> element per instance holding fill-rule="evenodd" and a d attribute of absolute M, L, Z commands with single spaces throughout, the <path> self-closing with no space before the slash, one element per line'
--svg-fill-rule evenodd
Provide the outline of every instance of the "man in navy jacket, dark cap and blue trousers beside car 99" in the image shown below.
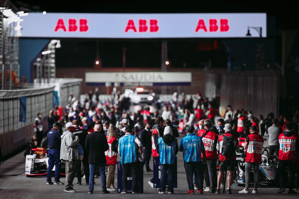
<path fill-rule="evenodd" d="M 49 160 L 48 160 L 48 171 L 47 171 L 47 185 L 52 185 L 52 169 L 55 164 L 55 185 L 63 185 L 60 182 L 59 170 L 60 170 L 60 145 L 61 145 L 61 135 L 58 129 L 60 128 L 60 123 L 55 122 L 53 128 L 47 134 L 47 144 L 49 148 Z"/>

